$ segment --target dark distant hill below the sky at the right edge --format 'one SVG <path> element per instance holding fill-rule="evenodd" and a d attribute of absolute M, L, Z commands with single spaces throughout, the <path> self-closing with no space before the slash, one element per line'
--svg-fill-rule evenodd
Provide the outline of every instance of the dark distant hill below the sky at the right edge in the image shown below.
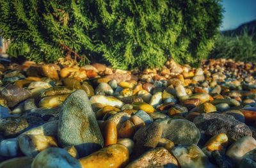
<path fill-rule="evenodd" d="M 248 34 L 252 35 L 253 39 L 256 40 L 256 20 L 241 24 L 236 29 L 221 31 L 221 34 L 224 36 L 239 36 L 242 35 L 244 31 L 248 32 Z"/>

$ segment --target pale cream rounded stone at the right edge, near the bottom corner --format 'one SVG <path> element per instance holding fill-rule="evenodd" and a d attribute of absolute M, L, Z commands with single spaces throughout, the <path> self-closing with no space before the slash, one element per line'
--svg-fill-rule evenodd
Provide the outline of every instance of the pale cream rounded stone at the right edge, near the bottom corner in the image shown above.
<path fill-rule="evenodd" d="M 256 148 L 256 141 L 253 137 L 242 137 L 228 148 L 226 155 L 236 162 L 240 162 L 243 156 Z"/>

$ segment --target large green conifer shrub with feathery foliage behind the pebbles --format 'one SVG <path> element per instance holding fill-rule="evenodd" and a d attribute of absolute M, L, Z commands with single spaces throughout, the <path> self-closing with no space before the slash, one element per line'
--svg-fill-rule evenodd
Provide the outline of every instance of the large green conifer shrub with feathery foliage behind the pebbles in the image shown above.
<path fill-rule="evenodd" d="M 67 55 L 113 68 L 198 63 L 221 23 L 218 0 L 1 0 L 0 30 L 33 61 Z"/>

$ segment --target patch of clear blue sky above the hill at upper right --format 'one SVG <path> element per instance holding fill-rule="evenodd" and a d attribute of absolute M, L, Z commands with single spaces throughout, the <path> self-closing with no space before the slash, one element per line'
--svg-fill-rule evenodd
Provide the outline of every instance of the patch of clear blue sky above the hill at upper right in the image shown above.
<path fill-rule="evenodd" d="M 234 29 L 244 22 L 256 19 L 256 0 L 223 0 L 221 30 Z"/>

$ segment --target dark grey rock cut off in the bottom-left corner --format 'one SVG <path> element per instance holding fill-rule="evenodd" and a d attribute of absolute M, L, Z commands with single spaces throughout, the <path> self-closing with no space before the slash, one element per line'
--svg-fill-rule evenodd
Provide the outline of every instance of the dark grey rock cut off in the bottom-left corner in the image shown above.
<path fill-rule="evenodd" d="M 19 158 L 11 158 L 6 160 L 0 164 L 1 168 L 13 168 L 19 165 L 19 168 L 30 168 L 33 162 L 33 158 L 31 157 L 19 157 Z"/>

